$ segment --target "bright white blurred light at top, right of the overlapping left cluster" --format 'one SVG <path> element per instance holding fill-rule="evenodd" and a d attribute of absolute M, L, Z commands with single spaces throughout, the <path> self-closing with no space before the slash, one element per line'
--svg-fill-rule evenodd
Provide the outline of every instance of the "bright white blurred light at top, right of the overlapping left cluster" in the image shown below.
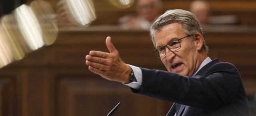
<path fill-rule="evenodd" d="M 92 0 L 66 0 L 70 14 L 78 25 L 90 25 L 96 19 Z"/>

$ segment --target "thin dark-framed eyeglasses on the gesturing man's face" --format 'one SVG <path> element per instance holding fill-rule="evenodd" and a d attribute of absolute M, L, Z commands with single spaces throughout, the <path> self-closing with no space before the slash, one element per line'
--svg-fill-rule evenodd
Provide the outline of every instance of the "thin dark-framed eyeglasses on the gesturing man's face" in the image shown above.
<path fill-rule="evenodd" d="M 192 35 L 188 35 L 188 36 L 192 36 Z M 185 36 L 183 38 L 186 38 L 188 36 Z M 174 51 L 177 51 L 180 49 L 180 40 L 183 39 L 183 38 L 180 38 L 178 40 L 174 40 L 170 43 L 168 43 L 166 46 L 162 46 L 162 47 L 158 47 L 156 48 L 153 52 L 154 54 L 158 57 L 158 58 L 161 58 L 163 57 L 166 52 L 165 52 L 165 47 L 167 47 L 170 51 L 174 52 Z"/>

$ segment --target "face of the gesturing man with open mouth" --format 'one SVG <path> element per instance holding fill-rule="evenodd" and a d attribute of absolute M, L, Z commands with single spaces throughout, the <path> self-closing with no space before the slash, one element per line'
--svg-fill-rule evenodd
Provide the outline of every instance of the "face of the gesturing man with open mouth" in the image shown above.
<path fill-rule="evenodd" d="M 188 36 L 184 33 L 182 25 L 171 23 L 154 34 L 156 47 L 165 46 L 169 42 Z M 194 36 L 194 35 L 193 35 Z M 189 37 L 180 40 L 180 49 L 172 52 L 165 49 L 166 55 L 161 58 L 164 66 L 169 72 L 174 72 L 182 76 L 192 76 L 200 66 L 200 54 L 196 47 L 192 47 L 196 42 L 190 42 Z"/>

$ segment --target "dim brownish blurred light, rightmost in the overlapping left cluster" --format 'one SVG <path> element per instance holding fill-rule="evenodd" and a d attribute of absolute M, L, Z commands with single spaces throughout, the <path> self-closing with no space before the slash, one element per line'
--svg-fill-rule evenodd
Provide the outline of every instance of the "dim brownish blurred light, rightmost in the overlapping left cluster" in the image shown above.
<path fill-rule="evenodd" d="M 52 6 L 43 0 L 36 0 L 30 4 L 42 30 L 45 45 L 52 44 L 58 34 L 56 16 Z"/>

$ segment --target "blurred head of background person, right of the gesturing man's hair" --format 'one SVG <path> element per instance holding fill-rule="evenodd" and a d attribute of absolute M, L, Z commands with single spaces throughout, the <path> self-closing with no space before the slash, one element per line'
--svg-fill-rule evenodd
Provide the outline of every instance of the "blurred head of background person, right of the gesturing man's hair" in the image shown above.
<path fill-rule="evenodd" d="M 189 7 L 190 12 L 192 12 L 198 22 L 204 28 L 210 22 L 210 4 L 205 0 L 194 0 L 190 3 Z"/>

